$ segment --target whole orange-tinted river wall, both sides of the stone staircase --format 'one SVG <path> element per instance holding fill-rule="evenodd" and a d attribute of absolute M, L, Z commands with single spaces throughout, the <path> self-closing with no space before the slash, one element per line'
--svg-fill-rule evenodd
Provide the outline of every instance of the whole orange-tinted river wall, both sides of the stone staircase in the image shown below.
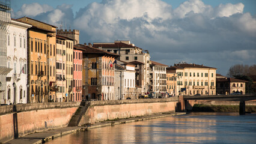
<path fill-rule="evenodd" d="M 78 102 L 67 102 L 0 106 L 0 143 L 35 132 L 67 127 L 79 107 L 83 107 L 80 105 Z M 173 112 L 177 107 L 178 97 L 91 101 L 79 125 Z"/>

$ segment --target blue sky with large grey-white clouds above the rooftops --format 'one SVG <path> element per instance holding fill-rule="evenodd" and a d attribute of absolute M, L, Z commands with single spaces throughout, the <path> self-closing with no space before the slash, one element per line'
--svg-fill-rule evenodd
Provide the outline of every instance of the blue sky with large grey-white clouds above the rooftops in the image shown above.
<path fill-rule="evenodd" d="M 218 68 L 256 63 L 255 0 L 12 0 L 11 16 L 79 29 L 80 43 L 130 40 L 152 61 Z"/>

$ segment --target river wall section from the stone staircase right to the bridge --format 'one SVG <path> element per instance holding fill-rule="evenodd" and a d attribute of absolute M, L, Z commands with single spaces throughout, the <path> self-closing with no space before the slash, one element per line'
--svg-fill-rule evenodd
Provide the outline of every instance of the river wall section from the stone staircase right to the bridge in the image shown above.
<path fill-rule="evenodd" d="M 108 119 L 124 119 L 154 113 L 175 112 L 178 109 L 178 97 L 160 99 L 91 101 L 87 112 L 79 123 L 94 124 Z"/>

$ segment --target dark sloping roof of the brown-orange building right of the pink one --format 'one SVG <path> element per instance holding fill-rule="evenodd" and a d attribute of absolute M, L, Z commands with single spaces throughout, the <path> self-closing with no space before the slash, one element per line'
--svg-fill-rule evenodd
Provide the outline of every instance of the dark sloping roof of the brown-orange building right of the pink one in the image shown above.
<path fill-rule="evenodd" d="M 105 50 L 97 49 L 95 47 L 85 46 L 84 44 L 76 44 L 74 46 L 74 49 L 83 50 L 83 53 L 102 53 L 102 54 L 108 54 L 108 55 L 113 55 L 113 56 L 120 56 L 115 53 L 106 52 Z"/>

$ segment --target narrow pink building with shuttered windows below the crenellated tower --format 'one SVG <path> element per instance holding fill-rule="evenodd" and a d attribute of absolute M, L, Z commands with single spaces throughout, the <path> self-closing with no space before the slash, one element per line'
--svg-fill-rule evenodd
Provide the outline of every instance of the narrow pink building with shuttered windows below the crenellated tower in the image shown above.
<path fill-rule="evenodd" d="M 82 50 L 74 47 L 73 101 L 82 101 Z"/>

